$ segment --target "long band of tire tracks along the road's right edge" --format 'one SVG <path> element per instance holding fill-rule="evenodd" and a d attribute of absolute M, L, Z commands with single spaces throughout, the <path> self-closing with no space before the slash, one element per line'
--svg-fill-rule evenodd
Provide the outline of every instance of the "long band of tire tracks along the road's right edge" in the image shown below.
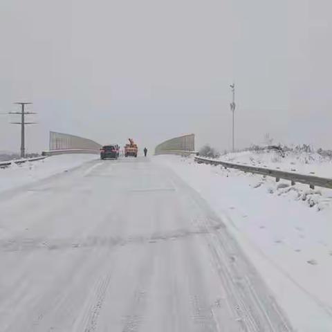
<path fill-rule="evenodd" d="M 194 215 L 193 224 L 203 229 L 212 264 L 225 288 L 225 301 L 238 322 L 240 331 L 293 331 L 285 313 L 277 305 L 255 267 L 250 264 L 221 219 L 201 196 L 180 178 L 178 185 L 187 195 L 187 210 Z M 219 229 L 216 229 L 219 225 Z M 223 226 L 223 227 L 221 227 Z"/>

